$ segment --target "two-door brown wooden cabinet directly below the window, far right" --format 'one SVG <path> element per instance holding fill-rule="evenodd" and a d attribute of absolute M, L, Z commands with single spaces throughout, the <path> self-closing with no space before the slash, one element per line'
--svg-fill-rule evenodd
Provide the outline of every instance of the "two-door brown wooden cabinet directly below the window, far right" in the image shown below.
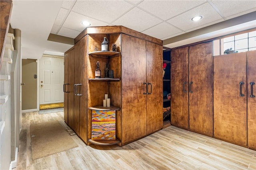
<path fill-rule="evenodd" d="M 248 142 L 254 149 L 256 102 L 250 82 L 256 79 L 255 56 L 249 51 L 214 57 L 214 137 L 241 146 Z"/>

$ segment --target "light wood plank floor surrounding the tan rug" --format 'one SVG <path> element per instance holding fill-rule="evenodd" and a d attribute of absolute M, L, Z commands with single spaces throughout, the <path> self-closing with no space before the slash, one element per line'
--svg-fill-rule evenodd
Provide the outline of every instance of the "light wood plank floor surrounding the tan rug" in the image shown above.
<path fill-rule="evenodd" d="M 31 158 L 30 124 L 58 120 L 63 112 L 38 115 L 22 114 L 18 170 L 242 170 L 256 169 L 256 151 L 190 131 L 169 126 L 148 137 L 125 145 L 86 146 L 76 135 L 72 138 L 79 147 L 46 156 Z"/>

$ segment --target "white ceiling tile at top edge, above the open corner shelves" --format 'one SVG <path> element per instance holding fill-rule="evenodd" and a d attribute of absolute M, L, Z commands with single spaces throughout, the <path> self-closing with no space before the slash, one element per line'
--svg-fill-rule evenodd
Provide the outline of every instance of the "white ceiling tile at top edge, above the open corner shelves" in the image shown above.
<path fill-rule="evenodd" d="M 77 1 L 72 11 L 110 23 L 131 7 L 132 4 L 120 0 L 83 0 Z"/>

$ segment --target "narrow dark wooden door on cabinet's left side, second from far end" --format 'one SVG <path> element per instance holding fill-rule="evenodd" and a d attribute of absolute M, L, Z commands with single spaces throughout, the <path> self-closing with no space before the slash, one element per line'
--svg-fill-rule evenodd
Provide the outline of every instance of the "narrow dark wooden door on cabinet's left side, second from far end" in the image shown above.
<path fill-rule="evenodd" d="M 68 125 L 74 129 L 74 49 L 68 52 Z"/>

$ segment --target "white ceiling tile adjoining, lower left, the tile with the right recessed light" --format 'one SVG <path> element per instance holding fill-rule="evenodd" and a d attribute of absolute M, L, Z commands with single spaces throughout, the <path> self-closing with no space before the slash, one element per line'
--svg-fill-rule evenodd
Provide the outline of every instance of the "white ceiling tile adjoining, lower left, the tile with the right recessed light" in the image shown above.
<path fill-rule="evenodd" d="M 146 31 L 143 31 L 142 33 L 158 39 L 162 39 L 164 37 L 174 35 L 179 32 L 181 32 L 180 29 L 177 29 L 176 27 L 170 25 L 169 23 L 163 22 L 150 29 L 147 29 Z"/>

